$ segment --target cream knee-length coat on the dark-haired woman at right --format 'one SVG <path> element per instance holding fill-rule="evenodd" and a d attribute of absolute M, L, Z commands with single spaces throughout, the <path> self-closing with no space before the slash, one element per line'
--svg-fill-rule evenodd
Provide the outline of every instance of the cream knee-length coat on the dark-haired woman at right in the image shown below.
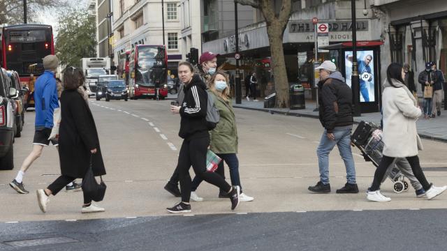
<path fill-rule="evenodd" d="M 422 114 L 418 102 L 406 86 L 392 79 L 383 82 L 383 155 L 388 157 L 411 157 L 422 150 L 422 143 L 416 130 L 416 121 Z"/>

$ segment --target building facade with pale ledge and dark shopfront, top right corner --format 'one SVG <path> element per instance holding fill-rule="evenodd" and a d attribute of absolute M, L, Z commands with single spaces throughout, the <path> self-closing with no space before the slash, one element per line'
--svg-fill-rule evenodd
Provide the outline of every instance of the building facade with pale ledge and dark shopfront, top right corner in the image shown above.
<path fill-rule="evenodd" d="M 415 73 L 435 61 L 447 73 L 447 2 L 443 0 L 375 0 L 374 17 L 381 24 L 382 71 L 391 62 L 408 63 Z M 422 86 L 416 84 L 418 93 Z"/>

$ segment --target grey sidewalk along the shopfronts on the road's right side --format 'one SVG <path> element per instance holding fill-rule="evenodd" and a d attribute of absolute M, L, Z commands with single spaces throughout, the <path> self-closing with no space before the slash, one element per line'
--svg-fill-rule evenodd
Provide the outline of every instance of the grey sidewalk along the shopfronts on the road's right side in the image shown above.
<path fill-rule="evenodd" d="M 242 99 L 242 104 L 236 104 L 233 100 L 233 107 L 270 112 L 272 114 L 277 113 L 290 116 L 305 116 L 318 119 L 318 112 L 314 112 L 316 102 L 313 100 L 306 100 L 306 109 L 264 108 L 263 98 L 258 98 L 258 102 Z M 360 121 L 371 121 L 380 124 L 380 120 L 380 112 L 367 113 L 354 117 L 354 123 L 360 123 Z M 417 127 L 420 137 L 447 142 L 447 111 L 442 109 L 441 116 L 437 116 L 436 119 L 426 120 L 421 117 L 417 122 Z"/>

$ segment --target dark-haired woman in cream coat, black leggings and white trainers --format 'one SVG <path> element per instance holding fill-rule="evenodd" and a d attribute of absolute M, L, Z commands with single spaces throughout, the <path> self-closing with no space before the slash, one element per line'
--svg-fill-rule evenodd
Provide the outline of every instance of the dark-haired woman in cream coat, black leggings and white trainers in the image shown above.
<path fill-rule="evenodd" d="M 411 165 L 414 176 L 423 185 L 427 199 L 440 195 L 447 186 L 435 187 L 428 183 L 420 169 L 418 150 L 422 150 L 416 121 L 422 114 L 418 102 L 405 86 L 404 71 L 399 63 L 391 63 L 386 70 L 387 79 L 383 82 L 383 158 L 376 169 L 371 188 L 367 191 L 367 199 L 371 201 L 390 201 L 380 192 L 380 183 L 386 169 L 395 158 L 406 158 Z"/>

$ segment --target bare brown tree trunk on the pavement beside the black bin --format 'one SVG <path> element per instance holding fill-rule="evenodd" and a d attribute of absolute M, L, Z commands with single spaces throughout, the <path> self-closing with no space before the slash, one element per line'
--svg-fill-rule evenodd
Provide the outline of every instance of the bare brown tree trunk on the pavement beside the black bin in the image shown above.
<path fill-rule="evenodd" d="M 283 27 L 280 24 L 271 23 L 267 26 L 268 40 L 270 42 L 271 67 L 274 76 L 274 89 L 277 93 L 275 107 L 289 107 L 288 79 L 284 48 L 282 45 Z"/>

